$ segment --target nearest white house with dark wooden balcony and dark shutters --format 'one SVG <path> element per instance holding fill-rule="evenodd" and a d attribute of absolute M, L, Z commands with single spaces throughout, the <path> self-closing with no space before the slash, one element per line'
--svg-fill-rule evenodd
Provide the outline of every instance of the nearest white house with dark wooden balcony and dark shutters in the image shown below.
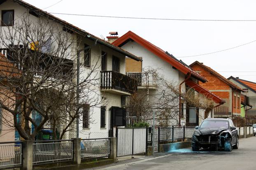
<path fill-rule="evenodd" d="M 121 107 L 122 96 L 131 95 L 136 90 L 134 79 L 126 76 L 126 57 L 135 61 L 142 59 L 21 0 L 1 1 L 0 11 L 1 30 L 7 29 L 7 26 L 15 27 L 22 22 L 22 18 L 27 18 L 33 23 L 43 20 L 59 31 L 68 32 L 70 39 L 74 40 L 68 54 L 76 56 L 73 58 L 74 63 L 77 62 L 79 54 L 80 62 L 84 65 L 80 70 L 80 82 L 94 70 L 91 76 L 95 83 L 88 89 L 81 90 L 93 91 L 89 92 L 89 97 L 95 103 L 101 102 L 94 103 L 93 107 L 85 107 L 79 122 L 79 137 L 105 138 L 112 135 L 114 126 L 125 124 L 125 111 Z M 4 49 L 0 52 L 5 53 Z M 76 82 L 75 78 L 73 82 Z M 58 128 L 61 131 L 63 127 L 60 125 Z M 67 138 L 74 138 L 74 131 L 76 129 L 67 132 Z"/>

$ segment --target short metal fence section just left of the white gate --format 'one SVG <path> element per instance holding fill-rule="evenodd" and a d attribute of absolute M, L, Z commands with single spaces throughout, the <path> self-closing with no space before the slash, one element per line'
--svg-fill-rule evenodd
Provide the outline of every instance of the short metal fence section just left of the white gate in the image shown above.
<path fill-rule="evenodd" d="M 110 155 L 110 138 L 81 139 L 81 159 Z"/>

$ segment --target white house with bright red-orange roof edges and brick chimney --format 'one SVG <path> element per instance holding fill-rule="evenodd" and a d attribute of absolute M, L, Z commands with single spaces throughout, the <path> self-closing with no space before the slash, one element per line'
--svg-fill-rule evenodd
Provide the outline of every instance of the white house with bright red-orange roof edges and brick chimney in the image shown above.
<path fill-rule="evenodd" d="M 142 91 L 147 88 L 149 100 L 160 100 L 160 98 L 163 97 L 163 91 L 165 90 L 163 84 L 158 84 L 156 82 L 157 80 L 154 80 L 154 76 L 149 76 L 147 82 L 143 82 L 143 77 L 145 77 L 143 71 L 152 68 L 157 70 L 158 74 L 161 75 L 161 77 L 163 76 L 163 79 L 169 84 L 179 88 L 179 91 L 182 93 L 186 91 L 186 86 L 190 86 L 191 88 L 194 88 L 195 91 L 212 98 L 217 104 L 224 102 L 213 93 L 198 85 L 198 81 L 207 81 L 204 77 L 200 76 L 181 60 L 176 59 L 172 54 L 169 54 L 167 51 L 165 52 L 137 34 L 129 31 L 120 38 L 118 36 L 109 36 L 107 38 L 112 44 L 142 58 L 142 63 L 131 61 L 126 58 L 126 74 L 138 79 L 138 82 L 140 82 L 138 90 Z M 198 108 L 186 105 L 181 97 L 175 100 L 175 102 L 176 104 L 170 103 L 170 105 L 177 106 L 176 111 L 172 109 L 172 112 L 178 112 L 178 114 L 177 116 L 170 118 L 169 125 L 180 124 L 194 126 L 200 124 L 204 119 L 205 111 L 202 109 L 198 110 Z M 211 116 L 213 116 L 212 111 L 209 114 L 209 117 Z"/>

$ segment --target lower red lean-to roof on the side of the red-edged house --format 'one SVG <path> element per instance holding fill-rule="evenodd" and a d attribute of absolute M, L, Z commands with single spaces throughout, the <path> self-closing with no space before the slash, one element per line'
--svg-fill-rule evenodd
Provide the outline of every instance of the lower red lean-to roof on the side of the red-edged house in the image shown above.
<path fill-rule="evenodd" d="M 191 88 L 195 89 L 198 93 L 205 95 L 207 98 L 212 99 L 215 103 L 223 104 L 226 101 L 215 95 L 214 93 L 208 91 L 206 88 L 196 84 L 191 80 L 186 81 L 186 85 L 190 86 Z"/>

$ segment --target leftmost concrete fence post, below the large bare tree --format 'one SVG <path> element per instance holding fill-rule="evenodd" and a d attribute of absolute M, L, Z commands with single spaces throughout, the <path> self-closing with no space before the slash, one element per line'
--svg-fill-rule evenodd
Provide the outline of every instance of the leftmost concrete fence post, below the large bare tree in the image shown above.
<path fill-rule="evenodd" d="M 33 169 L 33 141 L 22 142 L 22 170 Z"/>

